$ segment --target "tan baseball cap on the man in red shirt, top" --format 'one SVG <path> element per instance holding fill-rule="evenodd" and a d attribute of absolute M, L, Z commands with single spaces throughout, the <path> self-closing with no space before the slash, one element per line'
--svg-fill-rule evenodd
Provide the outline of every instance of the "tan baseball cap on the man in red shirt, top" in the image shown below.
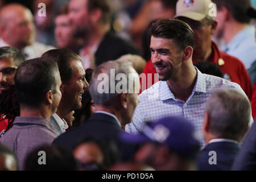
<path fill-rule="evenodd" d="M 174 18 L 184 16 L 200 21 L 212 11 L 212 6 L 209 6 L 210 3 L 212 3 L 210 0 L 179 0 L 176 4 L 176 15 Z M 214 16 L 212 18 L 215 19 Z"/>

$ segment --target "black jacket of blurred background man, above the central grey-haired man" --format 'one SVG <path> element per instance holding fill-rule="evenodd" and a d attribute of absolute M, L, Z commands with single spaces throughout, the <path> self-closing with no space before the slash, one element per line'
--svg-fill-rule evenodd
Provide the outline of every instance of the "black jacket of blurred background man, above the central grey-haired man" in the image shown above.
<path fill-rule="evenodd" d="M 139 52 L 130 42 L 119 38 L 112 32 L 108 32 L 95 53 L 95 64 L 98 66 L 106 61 L 116 60 L 126 54 L 139 55 Z"/>

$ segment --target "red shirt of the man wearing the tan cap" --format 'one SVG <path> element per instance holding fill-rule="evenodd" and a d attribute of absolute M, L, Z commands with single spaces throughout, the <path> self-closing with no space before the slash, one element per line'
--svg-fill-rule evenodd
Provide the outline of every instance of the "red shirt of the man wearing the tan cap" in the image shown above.
<path fill-rule="evenodd" d="M 230 56 L 225 52 L 218 49 L 216 43 L 212 42 L 213 56 L 210 58 L 210 63 L 217 64 L 224 76 L 229 76 L 231 81 L 236 82 L 241 86 L 248 98 L 251 98 L 251 83 L 248 72 L 245 69 L 245 65 L 236 57 Z M 222 60 L 221 60 L 222 59 Z M 193 62 L 194 63 L 194 62 Z M 195 64 L 195 63 L 194 63 Z M 148 80 L 147 73 L 152 73 L 152 84 L 154 84 L 154 73 L 156 73 L 152 61 L 148 61 L 143 73 L 146 74 L 146 80 Z M 150 76 L 151 77 L 151 76 Z M 156 81 L 157 82 L 157 81 Z M 151 85 L 147 85 L 150 88 Z"/>

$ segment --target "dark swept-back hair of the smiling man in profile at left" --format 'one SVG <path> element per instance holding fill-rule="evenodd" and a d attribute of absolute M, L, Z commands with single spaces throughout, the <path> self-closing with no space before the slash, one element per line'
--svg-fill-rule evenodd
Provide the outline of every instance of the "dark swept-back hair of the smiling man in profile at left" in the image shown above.
<path fill-rule="evenodd" d="M 63 83 L 71 80 L 73 71 L 70 64 L 72 60 L 81 60 L 81 57 L 69 49 L 51 49 L 43 53 L 44 59 L 52 59 L 59 65 L 60 78 Z"/>

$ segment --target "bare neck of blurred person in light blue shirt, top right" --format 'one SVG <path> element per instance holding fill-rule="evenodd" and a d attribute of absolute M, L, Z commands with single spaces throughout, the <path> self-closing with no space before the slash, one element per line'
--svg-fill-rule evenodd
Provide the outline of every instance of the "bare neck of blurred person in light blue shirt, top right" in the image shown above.
<path fill-rule="evenodd" d="M 236 36 L 240 31 L 248 26 L 249 24 L 247 23 L 238 23 L 234 20 L 232 22 L 226 23 L 223 33 L 225 43 L 229 44 L 233 40 L 234 36 Z"/>

